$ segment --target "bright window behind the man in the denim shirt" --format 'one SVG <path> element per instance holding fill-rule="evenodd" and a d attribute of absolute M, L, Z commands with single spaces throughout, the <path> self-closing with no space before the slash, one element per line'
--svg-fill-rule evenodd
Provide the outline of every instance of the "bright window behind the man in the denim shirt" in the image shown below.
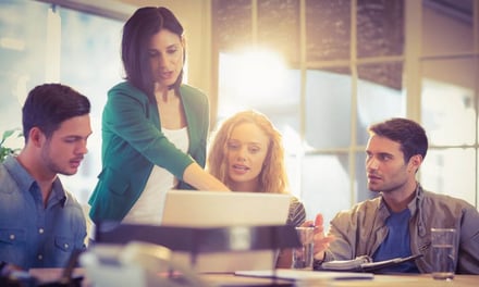
<path fill-rule="evenodd" d="M 101 167 L 102 107 L 108 89 L 122 77 L 123 21 L 15 0 L 0 3 L 0 132 L 22 128 L 21 109 L 27 92 L 46 82 L 72 86 L 91 102 L 94 134 L 88 153 L 78 174 L 62 176 L 65 188 L 86 203 Z M 22 147 L 23 140 L 12 145 Z"/>

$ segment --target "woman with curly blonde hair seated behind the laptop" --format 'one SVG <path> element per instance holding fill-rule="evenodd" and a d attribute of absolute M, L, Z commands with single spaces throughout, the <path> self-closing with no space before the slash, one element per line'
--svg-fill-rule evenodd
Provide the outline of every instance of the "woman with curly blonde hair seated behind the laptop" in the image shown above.
<path fill-rule="evenodd" d="M 210 142 L 207 170 L 233 191 L 288 194 L 282 137 L 263 114 L 243 111 L 226 118 Z M 303 203 L 292 196 L 286 224 L 306 221 Z M 281 252 L 278 266 L 291 266 Z"/>

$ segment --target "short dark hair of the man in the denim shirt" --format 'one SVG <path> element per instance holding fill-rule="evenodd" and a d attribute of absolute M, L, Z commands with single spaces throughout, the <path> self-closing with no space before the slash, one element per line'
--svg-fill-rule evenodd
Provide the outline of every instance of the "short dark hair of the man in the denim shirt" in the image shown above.
<path fill-rule="evenodd" d="M 89 114 L 90 102 L 87 97 L 69 86 L 44 84 L 35 87 L 22 109 L 23 135 L 28 141 L 28 133 L 38 127 L 49 138 L 64 121 Z"/>

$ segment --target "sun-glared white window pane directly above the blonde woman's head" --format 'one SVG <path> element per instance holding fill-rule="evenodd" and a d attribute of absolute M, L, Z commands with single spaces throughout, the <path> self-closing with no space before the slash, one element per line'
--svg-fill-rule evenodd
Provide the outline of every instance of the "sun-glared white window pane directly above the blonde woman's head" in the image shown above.
<path fill-rule="evenodd" d="M 287 68 L 277 52 L 250 49 L 220 53 L 219 75 L 220 118 L 247 109 L 298 116 L 299 71 Z"/>

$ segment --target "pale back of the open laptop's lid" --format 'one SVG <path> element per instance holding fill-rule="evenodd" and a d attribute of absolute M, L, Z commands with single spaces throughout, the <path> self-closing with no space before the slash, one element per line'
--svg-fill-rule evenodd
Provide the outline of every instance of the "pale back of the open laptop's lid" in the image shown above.
<path fill-rule="evenodd" d="M 284 194 L 170 190 L 162 225 L 281 225 L 286 224 L 290 201 Z"/>

